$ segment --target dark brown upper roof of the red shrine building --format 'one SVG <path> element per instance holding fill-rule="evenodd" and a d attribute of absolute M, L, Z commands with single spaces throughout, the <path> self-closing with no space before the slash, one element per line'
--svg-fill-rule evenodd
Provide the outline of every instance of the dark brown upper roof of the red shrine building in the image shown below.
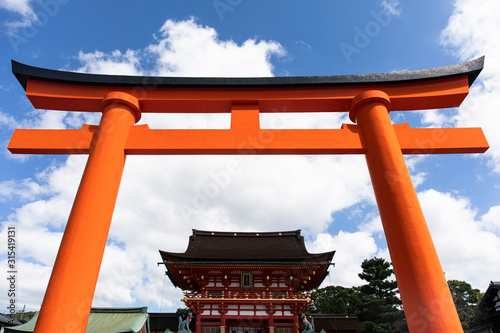
<path fill-rule="evenodd" d="M 300 230 L 283 232 L 212 232 L 193 230 L 184 253 L 160 251 L 163 261 L 321 262 L 335 251 L 311 254 Z"/>

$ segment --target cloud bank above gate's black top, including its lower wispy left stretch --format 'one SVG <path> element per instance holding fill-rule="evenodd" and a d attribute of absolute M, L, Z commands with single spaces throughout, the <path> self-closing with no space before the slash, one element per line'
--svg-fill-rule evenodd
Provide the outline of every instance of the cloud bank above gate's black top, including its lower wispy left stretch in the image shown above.
<path fill-rule="evenodd" d="M 155 42 L 142 50 L 122 53 L 80 51 L 81 72 L 155 76 L 272 76 L 272 56 L 285 55 L 275 41 L 248 39 L 241 45 L 220 40 L 215 29 L 196 23 L 167 20 Z"/>

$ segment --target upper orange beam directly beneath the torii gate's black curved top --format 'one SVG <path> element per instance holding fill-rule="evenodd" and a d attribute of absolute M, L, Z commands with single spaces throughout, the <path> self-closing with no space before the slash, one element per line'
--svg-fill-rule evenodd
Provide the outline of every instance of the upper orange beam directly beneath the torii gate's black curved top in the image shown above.
<path fill-rule="evenodd" d="M 459 106 L 469 93 L 467 76 L 412 84 L 294 88 L 155 88 L 74 85 L 28 80 L 26 96 L 37 109 L 100 112 L 102 97 L 112 91 L 139 100 L 142 113 L 224 113 L 231 104 L 256 103 L 262 113 L 345 112 L 363 91 L 385 91 L 392 111 Z"/>

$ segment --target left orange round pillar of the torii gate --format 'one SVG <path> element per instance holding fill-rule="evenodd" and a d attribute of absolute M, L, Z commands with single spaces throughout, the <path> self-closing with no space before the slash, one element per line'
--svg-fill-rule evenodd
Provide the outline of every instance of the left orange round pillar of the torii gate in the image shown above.
<path fill-rule="evenodd" d="M 102 118 L 68 219 L 36 333 L 85 332 L 125 166 L 125 143 L 140 119 L 139 102 L 108 93 Z M 97 187 L 97 188 L 96 188 Z M 71 290 L 71 294 L 61 293 Z"/>

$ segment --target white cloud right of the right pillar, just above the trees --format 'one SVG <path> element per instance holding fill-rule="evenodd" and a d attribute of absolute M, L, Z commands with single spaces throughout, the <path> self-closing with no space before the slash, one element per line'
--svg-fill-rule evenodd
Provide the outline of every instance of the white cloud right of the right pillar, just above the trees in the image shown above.
<path fill-rule="evenodd" d="M 480 290 L 498 279 L 500 233 L 490 224 L 498 208 L 478 217 L 468 199 L 450 193 L 427 190 L 419 199 L 446 278 Z"/>

